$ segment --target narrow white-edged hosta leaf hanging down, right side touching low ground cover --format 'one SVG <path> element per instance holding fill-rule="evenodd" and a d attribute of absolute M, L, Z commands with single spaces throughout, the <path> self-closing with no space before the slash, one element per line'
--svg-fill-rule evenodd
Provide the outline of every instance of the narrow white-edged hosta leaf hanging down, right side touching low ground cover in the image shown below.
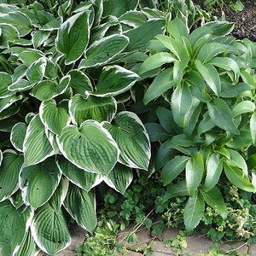
<path fill-rule="evenodd" d="M 90 233 L 96 227 L 96 195 L 93 190 L 86 192 L 78 186 L 71 184 L 64 201 L 67 212 L 76 222 Z"/>

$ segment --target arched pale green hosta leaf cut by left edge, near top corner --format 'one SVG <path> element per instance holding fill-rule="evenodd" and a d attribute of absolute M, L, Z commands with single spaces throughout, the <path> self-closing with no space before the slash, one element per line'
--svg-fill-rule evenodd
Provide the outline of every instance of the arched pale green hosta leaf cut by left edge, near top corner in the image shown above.
<path fill-rule="evenodd" d="M 0 16 L 0 23 L 6 23 L 15 26 L 20 32 L 20 37 L 24 37 L 32 31 L 31 21 L 26 15 L 18 11 L 5 14 L 2 13 Z"/>

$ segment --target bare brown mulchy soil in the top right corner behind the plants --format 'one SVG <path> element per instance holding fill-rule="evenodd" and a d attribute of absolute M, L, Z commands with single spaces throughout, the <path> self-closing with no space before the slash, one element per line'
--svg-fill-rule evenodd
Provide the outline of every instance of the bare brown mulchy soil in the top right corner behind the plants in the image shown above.
<path fill-rule="evenodd" d="M 193 1 L 196 4 L 203 5 L 204 0 Z M 256 42 L 256 1 L 247 0 L 241 1 L 244 5 L 244 9 L 241 11 L 235 11 L 230 8 L 229 5 L 224 4 L 223 9 L 218 9 L 216 6 L 216 15 L 218 18 L 221 16 L 221 12 L 224 11 L 226 20 L 234 22 L 235 28 L 231 33 L 238 39 L 249 38 Z"/>

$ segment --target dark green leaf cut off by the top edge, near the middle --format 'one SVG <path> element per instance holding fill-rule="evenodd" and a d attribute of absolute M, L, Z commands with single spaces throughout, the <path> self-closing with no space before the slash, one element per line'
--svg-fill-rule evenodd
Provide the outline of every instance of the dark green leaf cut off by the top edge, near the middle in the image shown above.
<path fill-rule="evenodd" d="M 126 11 L 137 8 L 138 0 L 107 0 L 103 2 L 103 16 L 113 15 L 119 17 L 125 14 Z"/>

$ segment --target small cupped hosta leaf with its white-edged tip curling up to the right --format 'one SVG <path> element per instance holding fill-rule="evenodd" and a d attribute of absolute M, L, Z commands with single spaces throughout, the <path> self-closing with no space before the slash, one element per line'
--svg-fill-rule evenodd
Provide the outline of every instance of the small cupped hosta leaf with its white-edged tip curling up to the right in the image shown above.
<path fill-rule="evenodd" d="M 59 84 L 51 80 L 44 80 L 33 87 L 30 94 L 40 101 L 47 101 L 62 94 L 67 89 L 69 81 L 70 76 L 63 77 Z"/>

